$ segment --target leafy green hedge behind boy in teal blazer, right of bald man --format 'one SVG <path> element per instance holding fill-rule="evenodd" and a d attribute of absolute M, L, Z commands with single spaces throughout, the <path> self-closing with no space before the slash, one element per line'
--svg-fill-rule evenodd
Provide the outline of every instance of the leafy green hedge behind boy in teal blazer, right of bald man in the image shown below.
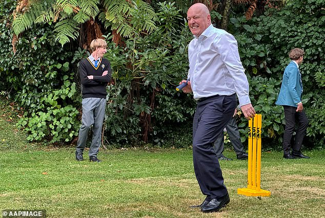
<path fill-rule="evenodd" d="M 289 1 L 281 10 L 268 9 L 264 15 L 247 21 L 232 18 L 241 59 L 251 77 L 255 109 L 264 116 L 263 133 L 282 142 L 283 109 L 275 105 L 283 70 L 290 62 L 288 53 L 298 47 L 305 51 L 300 67 L 303 83 L 302 103 L 310 125 L 305 145 L 324 145 L 325 10 L 322 1 Z M 249 45 L 249 46 L 248 46 Z M 262 78 L 263 77 L 263 78 Z M 242 131 L 243 132 L 243 131 Z M 274 143 L 274 142 L 273 142 Z"/>

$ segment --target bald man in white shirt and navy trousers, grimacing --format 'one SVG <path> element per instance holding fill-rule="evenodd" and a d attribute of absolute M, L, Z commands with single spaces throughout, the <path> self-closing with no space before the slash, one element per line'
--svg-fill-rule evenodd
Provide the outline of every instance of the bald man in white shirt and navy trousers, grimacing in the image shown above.
<path fill-rule="evenodd" d="M 193 118 L 193 164 L 201 192 L 206 195 L 202 204 L 191 208 L 213 212 L 230 202 L 213 143 L 234 113 L 236 93 L 246 118 L 254 117 L 255 110 L 234 36 L 212 26 L 204 4 L 192 5 L 187 20 L 194 39 L 188 51 L 190 81 L 182 90 L 193 92 L 197 100 Z"/>

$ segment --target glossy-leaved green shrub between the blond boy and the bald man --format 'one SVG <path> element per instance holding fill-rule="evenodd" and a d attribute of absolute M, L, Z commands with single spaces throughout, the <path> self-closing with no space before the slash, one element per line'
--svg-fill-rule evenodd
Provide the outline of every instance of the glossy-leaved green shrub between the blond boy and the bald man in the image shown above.
<path fill-rule="evenodd" d="M 107 58 L 115 85 L 108 88 L 106 128 L 118 143 L 149 138 L 160 144 L 162 135 L 171 134 L 174 126 L 191 122 L 194 112 L 192 98 L 175 91 L 175 85 L 187 76 L 189 31 L 184 25 L 175 28 L 183 22 L 173 4 L 159 6 L 156 31 L 135 34 L 123 47 L 109 45 Z M 134 14 L 133 19 L 137 17 Z"/>

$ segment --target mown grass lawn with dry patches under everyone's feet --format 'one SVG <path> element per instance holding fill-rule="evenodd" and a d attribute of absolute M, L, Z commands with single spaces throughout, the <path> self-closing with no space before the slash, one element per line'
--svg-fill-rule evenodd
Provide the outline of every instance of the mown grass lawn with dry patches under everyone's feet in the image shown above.
<path fill-rule="evenodd" d="M 2 105 L 0 104 L 0 107 Z M 46 209 L 47 217 L 325 217 L 325 150 L 308 160 L 263 152 L 261 188 L 270 197 L 247 197 L 247 161 L 220 162 L 230 204 L 202 213 L 204 200 L 193 172 L 192 151 L 101 150 L 102 163 L 74 160 L 74 148 L 27 143 L 14 113 L 0 108 L 0 211 Z"/>

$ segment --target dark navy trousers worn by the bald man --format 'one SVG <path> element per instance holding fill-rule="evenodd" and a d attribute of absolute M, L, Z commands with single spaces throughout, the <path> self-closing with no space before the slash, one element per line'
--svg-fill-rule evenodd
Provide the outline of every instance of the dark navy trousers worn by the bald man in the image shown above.
<path fill-rule="evenodd" d="M 227 194 L 213 143 L 224 130 L 236 108 L 235 94 L 215 95 L 200 100 L 193 119 L 193 164 L 206 200 Z"/>

